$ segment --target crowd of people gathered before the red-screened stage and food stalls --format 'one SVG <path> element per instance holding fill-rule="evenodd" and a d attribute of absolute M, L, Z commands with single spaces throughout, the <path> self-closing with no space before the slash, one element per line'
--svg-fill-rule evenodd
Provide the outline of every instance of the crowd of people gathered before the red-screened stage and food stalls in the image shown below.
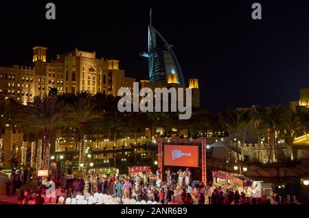
<path fill-rule="evenodd" d="M 23 175 L 23 176 L 22 176 Z M 273 197 L 248 197 L 244 193 L 224 190 L 211 183 L 207 186 L 199 181 L 192 181 L 190 170 L 179 169 L 173 173 L 167 169 L 163 173 L 152 171 L 146 173 L 131 173 L 130 175 L 88 175 L 87 184 L 83 178 L 68 179 L 65 175 L 49 176 L 46 182 L 38 178 L 38 186 L 24 191 L 21 181 L 25 172 L 15 173 L 12 180 L 21 186 L 19 204 L 57 204 L 59 197 L 74 198 L 77 195 L 103 193 L 122 199 L 135 199 L 137 202 L 151 201 L 158 204 L 288 204 L 278 193 Z M 11 182 L 12 184 L 12 182 Z M 12 191 L 14 194 L 14 191 Z M 295 202 L 295 204 L 300 204 Z"/>

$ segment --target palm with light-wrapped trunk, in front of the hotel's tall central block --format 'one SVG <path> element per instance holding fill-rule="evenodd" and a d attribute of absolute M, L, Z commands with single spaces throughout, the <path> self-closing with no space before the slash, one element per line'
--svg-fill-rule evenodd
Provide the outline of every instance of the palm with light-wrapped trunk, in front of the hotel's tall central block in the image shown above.
<path fill-rule="evenodd" d="M 78 167 L 84 162 L 84 140 L 86 133 L 86 125 L 93 119 L 100 119 L 102 113 L 95 110 L 95 103 L 93 97 L 89 92 L 78 92 L 76 94 L 77 99 L 73 101 L 73 104 L 69 105 L 69 125 L 76 126 L 80 132 L 80 156 Z M 77 140 L 78 141 L 78 140 Z M 79 168 L 80 169 L 80 168 Z"/>

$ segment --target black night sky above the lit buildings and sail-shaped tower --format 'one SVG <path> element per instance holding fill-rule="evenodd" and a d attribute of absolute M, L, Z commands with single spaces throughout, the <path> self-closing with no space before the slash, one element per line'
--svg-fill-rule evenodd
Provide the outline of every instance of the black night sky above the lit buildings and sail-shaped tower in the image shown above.
<path fill-rule="evenodd" d="M 309 88 L 309 1 L 49 1 L 0 3 L 0 66 L 27 64 L 32 47 L 47 59 L 77 47 L 120 60 L 129 77 L 148 79 L 149 10 L 153 25 L 174 45 L 185 79 L 197 77 L 209 110 L 283 104 Z"/>

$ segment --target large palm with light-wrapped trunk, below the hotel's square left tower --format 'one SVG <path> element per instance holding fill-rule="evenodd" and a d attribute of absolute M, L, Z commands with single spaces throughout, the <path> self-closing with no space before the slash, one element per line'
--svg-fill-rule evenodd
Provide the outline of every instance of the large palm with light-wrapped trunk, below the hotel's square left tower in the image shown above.
<path fill-rule="evenodd" d="M 30 106 L 27 107 L 30 116 L 27 122 L 33 128 L 44 134 L 43 169 L 49 169 L 49 138 L 52 131 L 65 124 L 65 107 L 56 97 L 36 96 Z"/>

